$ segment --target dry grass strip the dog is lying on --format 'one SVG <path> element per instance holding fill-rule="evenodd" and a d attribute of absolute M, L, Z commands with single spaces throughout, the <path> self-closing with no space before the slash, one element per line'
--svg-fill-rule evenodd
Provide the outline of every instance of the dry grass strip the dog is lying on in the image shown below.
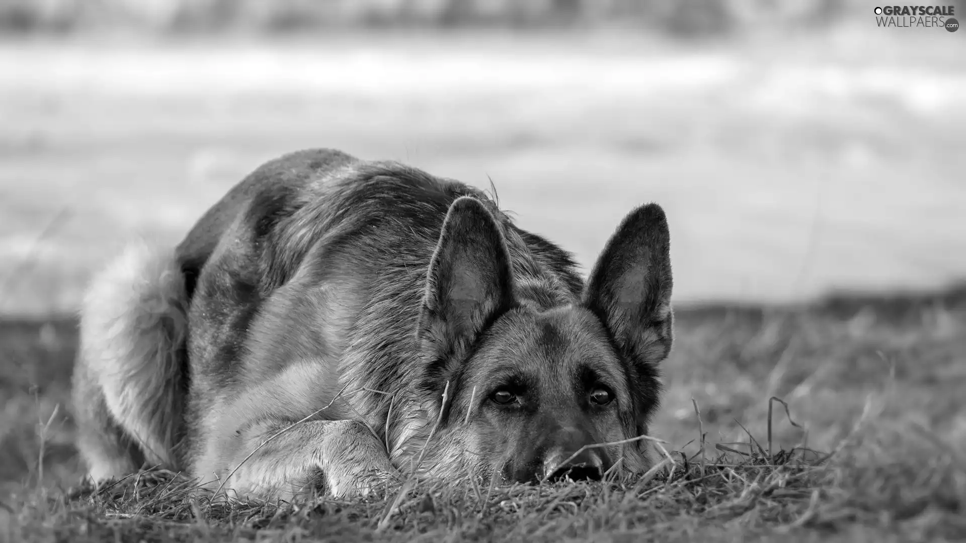
<path fill-rule="evenodd" d="M 794 307 L 685 307 L 652 428 L 668 456 L 659 452 L 655 470 L 640 480 L 494 488 L 448 481 L 403 495 L 392 486 L 366 500 L 228 507 L 192 499 L 191 481 L 169 472 L 100 490 L 79 484 L 64 411 L 75 331 L 68 320 L 8 322 L 0 327 L 0 353 L 9 361 L 0 383 L 10 398 L 0 466 L 19 468 L 3 472 L 10 484 L 0 534 L 31 541 L 954 540 L 966 537 L 964 332 L 966 289 Z M 31 365 L 34 374 L 25 376 Z M 787 402 L 788 413 L 772 396 Z"/>

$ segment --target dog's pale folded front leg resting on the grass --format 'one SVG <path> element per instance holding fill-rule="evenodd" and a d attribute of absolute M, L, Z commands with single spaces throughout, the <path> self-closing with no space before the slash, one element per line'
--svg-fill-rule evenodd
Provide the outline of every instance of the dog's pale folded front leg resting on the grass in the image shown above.
<path fill-rule="evenodd" d="M 366 496 L 393 471 L 384 444 L 357 420 L 258 422 L 222 441 L 216 456 L 201 462 L 206 485 L 236 498 L 298 500 L 313 493 Z M 286 430 L 286 428 L 288 428 Z M 264 444 L 263 444 L 264 443 Z M 213 468 L 205 472 L 205 465 Z"/>

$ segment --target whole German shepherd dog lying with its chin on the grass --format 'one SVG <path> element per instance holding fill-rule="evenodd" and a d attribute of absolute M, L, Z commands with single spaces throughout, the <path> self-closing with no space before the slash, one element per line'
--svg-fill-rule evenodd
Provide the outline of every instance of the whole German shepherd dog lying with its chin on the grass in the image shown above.
<path fill-rule="evenodd" d="M 96 481 L 160 466 L 260 500 L 645 471 L 668 246 L 641 206 L 584 282 L 481 190 L 332 150 L 276 158 L 177 247 L 129 245 L 95 275 L 78 448 Z"/>

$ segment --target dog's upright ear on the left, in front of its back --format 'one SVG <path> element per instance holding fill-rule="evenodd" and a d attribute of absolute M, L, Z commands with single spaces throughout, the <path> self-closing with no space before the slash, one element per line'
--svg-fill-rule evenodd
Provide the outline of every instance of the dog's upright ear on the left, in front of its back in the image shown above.
<path fill-rule="evenodd" d="M 513 305 L 506 241 L 493 214 L 463 196 L 449 207 L 430 262 L 417 332 L 427 386 L 442 386 L 452 360 L 469 354 L 473 339 Z"/>

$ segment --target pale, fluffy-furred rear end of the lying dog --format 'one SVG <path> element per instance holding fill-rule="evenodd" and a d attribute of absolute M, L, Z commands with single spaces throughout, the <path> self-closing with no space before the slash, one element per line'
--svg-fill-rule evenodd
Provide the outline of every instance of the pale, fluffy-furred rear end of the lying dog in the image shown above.
<path fill-rule="evenodd" d="M 73 374 L 77 445 L 97 481 L 180 469 L 188 295 L 173 249 L 131 244 L 93 278 Z"/>

